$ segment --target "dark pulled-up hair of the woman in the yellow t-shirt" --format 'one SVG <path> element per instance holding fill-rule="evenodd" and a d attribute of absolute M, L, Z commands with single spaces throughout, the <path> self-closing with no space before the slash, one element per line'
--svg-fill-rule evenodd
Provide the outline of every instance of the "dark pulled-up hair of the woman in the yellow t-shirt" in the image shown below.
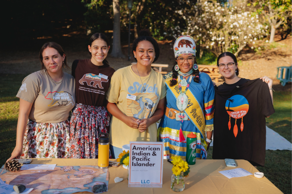
<path fill-rule="evenodd" d="M 155 58 L 153 61 L 153 63 L 154 63 L 155 61 L 157 61 L 159 54 L 160 54 L 160 49 L 158 47 L 158 43 L 156 42 L 156 40 L 154 38 L 151 37 L 151 33 L 148 30 L 141 30 L 139 35 L 140 36 L 138 38 L 136 38 L 136 40 L 134 40 L 134 43 L 133 43 L 133 47 L 132 47 L 133 56 L 134 56 L 134 51 L 136 51 L 139 42 L 146 40 L 146 41 L 149 41 L 154 47 L 154 51 L 155 51 Z M 135 56 L 134 56 L 134 59 L 137 61 Z"/>

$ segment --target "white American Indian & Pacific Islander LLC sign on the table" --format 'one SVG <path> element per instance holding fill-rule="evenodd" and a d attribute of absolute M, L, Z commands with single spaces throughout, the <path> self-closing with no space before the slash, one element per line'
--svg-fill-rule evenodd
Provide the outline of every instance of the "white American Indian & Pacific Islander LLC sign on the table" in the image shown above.
<path fill-rule="evenodd" d="M 163 142 L 130 142 L 128 187 L 162 187 Z"/>

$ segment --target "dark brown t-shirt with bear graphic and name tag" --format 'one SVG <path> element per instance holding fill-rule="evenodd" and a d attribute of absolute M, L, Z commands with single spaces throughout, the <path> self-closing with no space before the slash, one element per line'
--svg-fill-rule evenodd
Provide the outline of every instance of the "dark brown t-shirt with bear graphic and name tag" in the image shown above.
<path fill-rule="evenodd" d="M 76 81 L 76 103 L 106 106 L 106 92 L 114 72 L 108 65 L 92 64 L 91 59 L 75 60 L 72 64 L 72 76 Z"/>

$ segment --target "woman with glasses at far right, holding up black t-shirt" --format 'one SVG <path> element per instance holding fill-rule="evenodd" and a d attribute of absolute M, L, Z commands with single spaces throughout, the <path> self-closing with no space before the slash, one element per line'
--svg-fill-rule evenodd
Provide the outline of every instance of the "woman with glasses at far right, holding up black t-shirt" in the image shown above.
<path fill-rule="evenodd" d="M 274 113 L 273 81 L 237 77 L 237 59 L 224 52 L 217 66 L 225 82 L 216 87 L 213 159 L 242 159 L 264 166 L 266 120 Z"/>

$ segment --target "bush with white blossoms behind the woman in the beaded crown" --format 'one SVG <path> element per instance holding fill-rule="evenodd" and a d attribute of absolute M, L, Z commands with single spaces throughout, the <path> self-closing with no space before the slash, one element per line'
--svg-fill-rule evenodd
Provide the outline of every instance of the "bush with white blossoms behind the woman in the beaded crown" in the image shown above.
<path fill-rule="evenodd" d="M 201 0 L 185 17 L 188 27 L 183 34 L 191 35 L 200 43 L 200 57 L 204 48 L 217 57 L 221 52 L 237 54 L 254 40 L 263 38 L 267 30 L 246 8 L 246 0 L 221 5 L 216 1 Z"/>

